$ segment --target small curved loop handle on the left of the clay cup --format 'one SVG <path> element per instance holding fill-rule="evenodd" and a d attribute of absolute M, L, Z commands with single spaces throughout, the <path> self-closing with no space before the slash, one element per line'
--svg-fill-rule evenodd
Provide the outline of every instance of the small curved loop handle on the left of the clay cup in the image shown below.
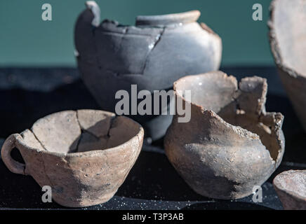
<path fill-rule="evenodd" d="M 20 162 L 17 162 L 16 160 L 13 160 L 11 157 L 11 151 L 13 148 L 17 147 L 16 146 L 16 141 L 17 138 L 20 137 L 20 134 L 11 134 L 6 141 L 4 141 L 4 145 L 2 146 L 1 149 L 1 158 L 4 161 L 4 164 L 8 169 L 15 173 L 15 174 L 25 174 L 25 164 L 22 164 Z M 19 150 L 19 148 L 18 148 Z"/>

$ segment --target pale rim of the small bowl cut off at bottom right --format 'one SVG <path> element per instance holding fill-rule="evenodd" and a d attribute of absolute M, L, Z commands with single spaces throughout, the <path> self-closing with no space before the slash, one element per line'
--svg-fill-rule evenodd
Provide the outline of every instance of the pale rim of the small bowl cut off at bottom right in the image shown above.
<path fill-rule="evenodd" d="M 285 193 L 286 195 L 289 195 L 289 196 L 295 198 L 295 200 L 302 200 L 302 202 L 306 203 L 306 197 L 303 197 L 302 195 L 296 193 L 295 191 L 288 190 L 287 188 L 284 188 L 284 186 L 279 182 L 279 176 L 291 176 L 290 174 L 292 174 L 292 173 L 295 174 L 295 172 L 302 173 L 306 176 L 306 170 L 290 169 L 290 170 L 281 172 L 281 174 L 278 174 L 277 176 L 275 176 L 275 178 L 273 179 L 273 186 L 277 190 L 280 190 L 281 192 Z"/>

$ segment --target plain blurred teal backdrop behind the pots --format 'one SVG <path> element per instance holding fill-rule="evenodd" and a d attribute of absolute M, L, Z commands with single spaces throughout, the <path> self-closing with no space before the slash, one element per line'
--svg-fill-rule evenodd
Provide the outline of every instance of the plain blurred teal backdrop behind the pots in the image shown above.
<path fill-rule="evenodd" d="M 84 0 L 6 0 L 0 2 L 0 66 L 75 66 L 73 30 Z M 222 65 L 272 65 L 267 20 L 269 0 L 108 0 L 96 1 L 101 19 L 133 25 L 137 15 L 198 9 L 222 38 Z M 51 3 L 53 20 L 41 20 L 41 6 Z M 252 6 L 262 4 L 262 21 Z"/>

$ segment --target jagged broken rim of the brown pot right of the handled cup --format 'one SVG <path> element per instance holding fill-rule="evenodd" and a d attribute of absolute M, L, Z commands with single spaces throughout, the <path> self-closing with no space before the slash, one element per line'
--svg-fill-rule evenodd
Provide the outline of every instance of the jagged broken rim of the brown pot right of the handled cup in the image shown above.
<path fill-rule="evenodd" d="M 213 73 L 215 71 L 209 71 L 207 73 Z M 218 71 L 220 72 L 223 76 L 226 76 L 227 78 L 230 78 L 232 80 L 235 81 L 236 83 L 236 86 L 237 86 L 237 90 L 239 90 L 239 83 L 237 81 L 237 78 L 235 78 L 234 76 L 229 76 L 227 75 L 227 73 L 224 73 L 223 71 Z M 208 110 L 208 109 L 205 109 L 204 106 L 201 106 L 201 105 L 198 105 L 198 104 L 195 104 L 194 102 L 189 102 L 188 100 L 185 99 L 185 97 L 182 97 L 180 94 L 178 94 L 178 92 L 176 92 L 177 90 L 177 87 L 176 85 L 178 85 L 178 83 L 180 83 L 182 80 L 184 80 L 185 78 L 196 78 L 196 77 L 199 77 L 199 76 L 206 76 L 207 73 L 200 73 L 200 74 L 197 74 L 197 75 L 189 75 L 189 76 L 184 76 L 178 80 L 176 80 L 174 83 L 173 83 L 173 90 L 174 90 L 174 94 L 175 94 L 175 97 L 180 97 L 184 102 L 187 102 L 189 104 L 191 104 L 192 106 L 195 106 L 197 109 L 199 109 L 201 111 L 201 113 L 204 113 L 204 112 L 208 112 L 210 113 L 211 117 L 214 117 L 214 118 L 217 118 L 220 123 L 226 125 L 227 127 L 231 127 L 232 130 L 234 130 L 234 132 L 236 132 L 237 134 L 239 134 L 241 136 L 241 132 L 244 132 L 244 136 L 243 137 L 246 137 L 247 139 L 258 139 L 260 141 L 260 144 L 262 144 L 262 141 L 260 139 L 260 136 L 254 132 L 251 132 L 249 130 L 246 130 L 245 128 L 243 127 L 240 127 L 239 125 L 231 125 L 230 123 L 227 123 L 225 120 L 223 120 L 222 117 L 218 116 L 217 113 L 215 113 L 214 111 L 212 110 Z M 259 77 L 259 76 L 257 76 Z M 246 77 L 247 78 L 247 77 Z M 260 77 L 261 78 L 261 77 Z M 264 103 L 265 105 L 265 103 Z M 265 116 L 265 113 L 262 113 L 263 111 L 260 111 L 260 114 L 263 114 Z M 277 112 L 267 112 L 267 113 L 277 113 Z M 173 119 L 174 120 L 174 119 Z M 283 123 L 284 121 L 284 116 L 281 114 L 281 124 Z M 241 132 L 239 132 L 241 131 Z M 279 130 L 277 130 L 277 141 L 279 142 L 279 146 L 281 146 L 281 128 L 279 128 Z M 274 160 L 271 156 L 271 153 L 269 151 L 269 149 L 264 145 L 262 144 L 262 146 L 265 147 L 265 149 L 269 152 L 269 155 L 270 155 L 270 159 L 272 160 L 272 162 L 274 162 L 275 164 L 275 169 L 277 169 L 277 167 L 280 165 L 281 163 L 281 160 L 283 158 L 283 155 L 284 155 L 284 151 L 285 151 L 285 148 L 282 148 L 282 147 L 279 147 L 279 154 L 277 155 L 277 159 Z"/>

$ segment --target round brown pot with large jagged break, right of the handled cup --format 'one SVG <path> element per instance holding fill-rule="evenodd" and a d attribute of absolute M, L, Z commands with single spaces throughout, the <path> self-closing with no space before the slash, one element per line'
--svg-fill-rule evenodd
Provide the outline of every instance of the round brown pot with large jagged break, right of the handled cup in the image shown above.
<path fill-rule="evenodd" d="M 239 199 L 253 193 L 279 166 L 284 154 L 284 116 L 265 111 L 267 82 L 221 71 L 185 76 L 175 96 L 190 106 L 189 123 L 173 117 L 165 137 L 168 159 L 197 193 Z M 188 102 L 178 90 L 191 90 Z"/>

